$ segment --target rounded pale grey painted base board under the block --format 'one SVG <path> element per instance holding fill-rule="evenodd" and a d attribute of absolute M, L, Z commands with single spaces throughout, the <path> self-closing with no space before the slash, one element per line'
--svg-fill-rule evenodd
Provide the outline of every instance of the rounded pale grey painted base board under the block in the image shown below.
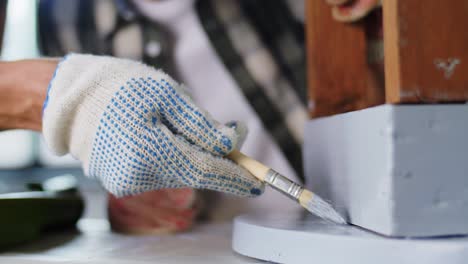
<path fill-rule="evenodd" d="M 244 215 L 234 220 L 237 253 L 278 263 L 462 264 L 468 237 L 397 239 L 313 215 Z"/>

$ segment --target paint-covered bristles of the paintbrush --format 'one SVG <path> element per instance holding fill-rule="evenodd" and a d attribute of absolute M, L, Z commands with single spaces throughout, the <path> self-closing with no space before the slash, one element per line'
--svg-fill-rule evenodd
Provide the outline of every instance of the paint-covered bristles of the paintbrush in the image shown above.
<path fill-rule="evenodd" d="M 333 207 L 325 202 L 319 196 L 312 194 L 308 190 L 304 190 L 299 199 L 300 204 L 314 215 L 335 222 L 337 224 L 346 224 L 344 218 L 333 209 Z"/>

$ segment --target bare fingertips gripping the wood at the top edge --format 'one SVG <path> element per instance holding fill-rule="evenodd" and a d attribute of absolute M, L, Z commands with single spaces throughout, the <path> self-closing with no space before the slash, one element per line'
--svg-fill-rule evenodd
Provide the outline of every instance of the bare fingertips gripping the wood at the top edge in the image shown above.
<path fill-rule="evenodd" d="M 382 5 L 381 0 L 325 0 L 332 5 L 333 18 L 341 22 L 354 22 Z"/>

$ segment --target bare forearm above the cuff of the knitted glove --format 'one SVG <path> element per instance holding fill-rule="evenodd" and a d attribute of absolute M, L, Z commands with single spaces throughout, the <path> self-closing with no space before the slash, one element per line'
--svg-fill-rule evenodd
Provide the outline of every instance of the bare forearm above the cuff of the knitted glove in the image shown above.
<path fill-rule="evenodd" d="M 0 62 L 0 130 L 42 128 L 42 105 L 55 60 Z"/>

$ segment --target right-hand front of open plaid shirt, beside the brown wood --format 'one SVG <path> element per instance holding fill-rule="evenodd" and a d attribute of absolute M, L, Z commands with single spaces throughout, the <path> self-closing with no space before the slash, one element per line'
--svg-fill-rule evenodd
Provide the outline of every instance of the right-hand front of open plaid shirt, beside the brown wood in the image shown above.
<path fill-rule="evenodd" d="M 303 27 L 278 0 L 199 0 L 196 8 L 218 56 L 303 179 Z"/>

